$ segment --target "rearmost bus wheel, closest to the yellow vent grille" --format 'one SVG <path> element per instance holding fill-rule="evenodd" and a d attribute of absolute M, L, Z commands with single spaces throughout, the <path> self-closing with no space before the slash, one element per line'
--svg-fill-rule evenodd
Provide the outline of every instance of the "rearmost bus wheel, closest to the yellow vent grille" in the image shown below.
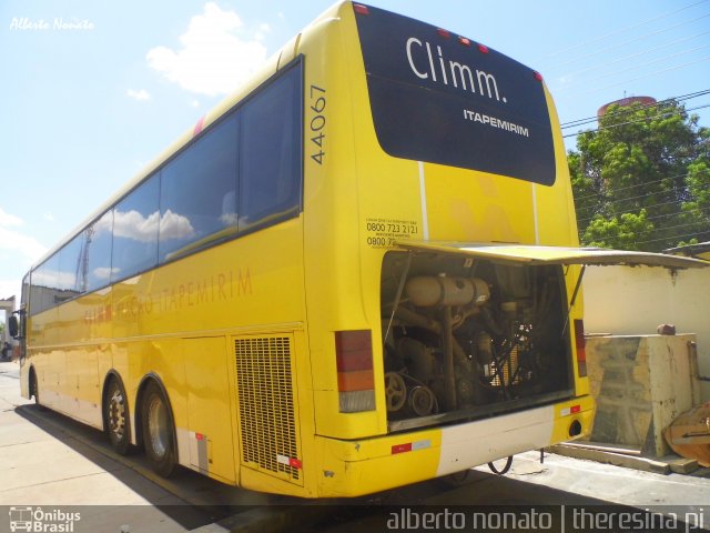
<path fill-rule="evenodd" d="M 155 382 L 148 384 L 142 413 L 145 454 L 153 470 L 163 477 L 169 477 L 176 463 L 173 418 L 168 401 Z"/>

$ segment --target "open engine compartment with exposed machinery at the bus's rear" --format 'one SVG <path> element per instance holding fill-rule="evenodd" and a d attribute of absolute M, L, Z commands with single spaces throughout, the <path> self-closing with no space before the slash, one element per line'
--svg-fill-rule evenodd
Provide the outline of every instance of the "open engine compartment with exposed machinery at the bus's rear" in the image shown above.
<path fill-rule="evenodd" d="M 390 431 L 572 395 L 562 266 L 388 252 L 381 301 Z"/>

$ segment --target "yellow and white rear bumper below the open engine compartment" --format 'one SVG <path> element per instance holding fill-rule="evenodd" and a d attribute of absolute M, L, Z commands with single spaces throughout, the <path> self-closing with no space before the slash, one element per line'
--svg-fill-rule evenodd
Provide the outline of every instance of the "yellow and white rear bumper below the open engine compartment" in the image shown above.
<path fill-rule="evenodd" d="M 584 436 L 594 400 L 581 396 L 475 422 L 361 441 L 316 438 L 317 495 L 359 496 L 453 474 Z"/>

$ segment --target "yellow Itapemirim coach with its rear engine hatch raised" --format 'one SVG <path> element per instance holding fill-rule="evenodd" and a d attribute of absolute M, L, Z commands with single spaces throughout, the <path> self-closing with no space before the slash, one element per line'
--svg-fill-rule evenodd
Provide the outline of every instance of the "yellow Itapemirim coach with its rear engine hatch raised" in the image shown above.
<path fill-rule="evenodd" d="M 355 496 L 590 428 L 584 264 L 536 71 L 349 1 L 23 281 L 26 398 L 246 489 Z"/>

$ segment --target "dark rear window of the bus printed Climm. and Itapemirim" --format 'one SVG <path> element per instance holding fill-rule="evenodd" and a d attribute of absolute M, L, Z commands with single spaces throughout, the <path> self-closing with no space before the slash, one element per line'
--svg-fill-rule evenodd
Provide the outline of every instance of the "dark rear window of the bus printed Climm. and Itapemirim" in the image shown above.
<path fill-rule="evenodd" d="M 377 140 L 389 155 L 551 185 L 542 82 L 513 59 L 368 7 L 356 13 Z"/>

